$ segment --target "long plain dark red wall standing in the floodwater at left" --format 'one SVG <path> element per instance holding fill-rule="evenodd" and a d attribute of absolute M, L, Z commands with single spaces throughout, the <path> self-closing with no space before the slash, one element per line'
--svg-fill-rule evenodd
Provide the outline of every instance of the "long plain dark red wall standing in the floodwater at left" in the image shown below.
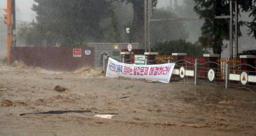
<path fill-rule="evenodd" d="M 73 49 L 81 49 L 81 57 L 73 57 Z M 91 50 L 91 55 L 85 55 L 86 49 Z M 11 63 L 15 60 L 47 70 L 75 71 L 86 65 L 94 67 L 94 48 L 11 47 Z"/>

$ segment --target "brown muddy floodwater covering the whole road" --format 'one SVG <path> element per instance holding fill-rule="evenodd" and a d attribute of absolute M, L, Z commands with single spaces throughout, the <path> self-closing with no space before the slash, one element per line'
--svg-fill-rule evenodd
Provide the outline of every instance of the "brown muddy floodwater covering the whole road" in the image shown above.
<path fill-rule="evenodd" d="M 1 63 L 0 135 L 256 135 L 255 92 L 101 72 Z"/>

